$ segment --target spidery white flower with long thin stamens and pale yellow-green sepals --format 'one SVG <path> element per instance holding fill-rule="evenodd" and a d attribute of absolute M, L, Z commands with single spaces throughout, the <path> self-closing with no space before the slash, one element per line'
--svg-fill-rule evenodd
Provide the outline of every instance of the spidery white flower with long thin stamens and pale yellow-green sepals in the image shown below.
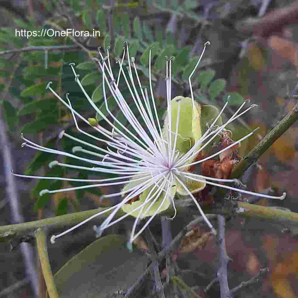
<path fill-rule="evenodd" d="M 226 125 L 249 111 L 256 105 L 251 105 L 246 110 L 241 111 L 243 106 L 248 102 L 245 101 L 235 112 L 235 114 L 223 125 L 216 126 L 218 119 L 221 117 L 222 112 L 224 111 L 228 102 L 224 105 L 216 119 L 209 125 L 207 131 L 201 135 L 201 128 L 199 124 L 199 120 L 201 117 L 201 107 L 194 101 L 193 97 L 193 89 L 191 84 L 191 77 L 194 74 L 203 54 L 206 49 L 207 42 L 204 45 L 204 50 L 198 59 L 198 62 L 193 69 L 193 72 L 189 76 L 189 86 L 190 86 L 190 95 L 191 97 L 182 97 L 178 96 L 172 99 L 171 97 L 171 59 L 167 59 L 166 66 L 167 66 L 167 77 L 166 77 L 166 89 L 167 89 L 167 114 L 164 120 L 164 127 L 162 128 L 159 123 L 159 118 L 157 115 L 156 105 L 154 101 L 153 89 L 152 89 L 152 81 L 151 81 L 151 49 L 149 51 L 149 84 L 150 84 L 150 94 L 151 94 L 151 102 L 148 96 L 147 89 L 143 89 L 141 86 L 141 82 L 137 73 L 136 65 L 134 58 L 130 58 L 129 56 L 129 49 L 128 44 L 125 43 L 124 52 L 122 59 L 118 60 L 119 63 L 119 75 L 117 79 L 114 77 L 109 52 L 107 49 L 107 57 L 103 57 L 101 55 L 102 60 L 94 59 L 97 61 L 100 69 L 103 73 L 103 95 L 105 101 L 105 107 L 108 111 L 110 117 L 118 123 L 115 126 L 105 115 L 98 109 L 98 107 L 94 104 L 91 100 L 89 95 L 84 90 L 82 84 L 79 80 L 79 75 L 75 72 L 74 63 L 70 63 L 70 67 L 75 75 L 75 82 L 80 86 L 81 90 L 85 94 L 87 100 L 94 108 L 94 110 L 101 116 L 105 121 L 111 126 L 111 131 L 103 128 L 102 126 L 98 125 L 98 123 L 90 123 L 94 127 L 97 132 L 100 132 L 105 136 L 105 139 L 100 139 L 94 135 L 91 135 L 83 130 L 81 130 L 76 121 L 76 117 L 79 117 L 81 120 L 86 122 L 87 124 L 91 125 L 87 119 L 85 119 L 82 115 L 77 113 L 72 108 L 70 100 L 68 98 L 68 94 L 66 94 L 66 100 L 63 100 L 48 84 L 47 88 L 52 91 L 52 93 L 64 104 L 66 107 L 70 109 L 72 112 L 72 116 L 75 120 L 75 125 L 77 130 L 80 131 L 82 134 L 89 136 L 90 138 L 104 142 L 107 147 L 100 148 L 95 145 L 89 144 L 83 140 L 77 139 L 74 136 L 67 134 L 66 132 L 62 132 L 60 137 L 67 137 L 78 142 L 81 145 L 86 146 L 86 148 L 92 148 L 96 150 L 90 151 L 83 149 L 80 146 L 76 146 L 73 148 L 73 153 L 80 151 L 86 153 L 90 156 L 94 156 L 95 159 L 88 159 L 82 158 L 75 154 L 62 152 L 59 150 L 45 148 L 43 146 L 37 145 L 34 142 L 26 139 L 23 135 L 22 138 L 24 139 L 23 146 L 27 146 L 36 150 L 41 150 L 49 153 L 61 154 L 64 156 L 69 156 L 74 159 L 78 159 L 84 162 L 88 162 L 90 164 L 96 165 L 95 167 L 83 167 L 83 166 L 76 166 L 72 164 L 62 164 L 58 161 L 51 162 L 49 167 L 53 166 L 63 166 L 63 167 L 70 167 L 75 169 L 83 169 L 83 170 L 90 170 L 94 172 L 101 172 L 101 173 L 111 173 L 111 174 L 118 174 L 117 178 L 111 179 L 70 179 L 70 178 L 60 178 L 60 177 L 39 177 L 39 176 L 27 176 L 27 175 L 18 175 L 14 174 L 15 176 L 20 177 L 28 177 L 28 178 L 38 178 L 38 179 L 57 179 L 57 180 L 66 180 L 66 181 L 86 181 L 86 182 L 98 182 L 98 184 L 88 184 L 85 186 L 80 187 L 70 187 L 66 189 L 59 189 L 59 190 L 42 190 L 41 195 L 44 193 L 57 193 L 62 191 L 69 191 L 69 190 L 79 190 L 79 189 L 86 189 L 90 187 L 100 187 L 100 186 L 111 186 L 117 184 L 125 184 L 126 186 L 120 193 L 113 193 L 109 195 L 105 195 L 105 197 L 112 197 L 112 196 L 119 196 L 122 195 L 122 201 L 104 211 L 97 213 L 96 215 L 91 216 L 90 218 L 86 219 L 85 221 L 77 224 L 76 226 L 72 227 L 71 229 L 59 234 L 53 235 L 51 238 L 52 242 L 55 242 L 55 238 L 58 238 L 67 232 L 75 229 L 76 227 L 86 223 L 90 219 L 104 214 L 106 212 L 111 212 L 111 214 L 103 221 L 99 230 L 100 233 L 107 227 L 121 221 L 123 218 L 127 217 L 128 215 L 133 215 L 136 217 L 134 222 L 134 226 L 131 232 L 131 239 L 132 242 L 142 231 L 145 229 L 146 226 L 152 221 L 152 219 L 161 212 L 169 207 L 172 203 L 175 209 L 176 215 L 176 208 L 175 208 L 175 201 L 174 196 L 176 192 L 179 192 L 183 195 L 189 195 L 195 205 L 198 207 L 199 212 L 203 216 L 205 222 L 210 227 L 212 232 L 216 234 L 215 229 L 213 228 L 212 224 L 209 222 L 207 217 L 205 216 L 204 212 L 202 211 L 200 205 L 198 204 L 197 200 L 194 198 L 193 193 L 202 190 L 206 184 L 210 184 L 213 186 L 223 187 L 229 190 L 236 190 L 241 193 L 253 194 L 258 195 L 266 198 L 285 198 L 285 193 L 281 197 L 274 197 L 270 195 L 262 195 L 258 193 L 252 193 L 246 190 L 240 190 L 235 187 L 226 186 L 223 184 L 219 184 L 217 182 L 228 182 L 234 183 L 238 181 L 237 179 L 216 179 L 212 177 L 201 176 L 195 173 L 190 172 L 190 167 L 195 164 L 199 164 L 204 162 L 208 159 L 211 159 L 218 154 L 228 150 L 229 148 L 235 146 L 236 144 L 240 143 L 242 140 L 251 136 L 254 131 L 247 134 L 243 138 L 239 139 L 238 141 L 232 143 L 231 145 L 227 146 L 226 148 L 220 150 L 219 152 L 208 156 L 204 159 L 199 161 L 195 161 L 196 156 L 200 153 L 209 143 L 215 139 L 218 134 L 222 134 Z M 125 74 L 122 64 L 127 55 L 128 60 L 128 77 Z M 137 86 L 134 83 L 133 72 L 135 73 L 135 77 L 137 80 Z M 119 79 L 120 76 L 123 76 L 129 91 L 131 93 L 131 97 L 134 101 L 135 107 L 138 109 L 139 115 L 142 117 L 142 120 L 145 122 L 145 127 L 143 127 L 136 115 L 132 112 L 131 107 L 126 102 L 125 98 L 122 96 L 120 90 L 118 89 Z M 119 109 L 122 111 L 128 122 L 133 126 L 134 131 L 129 131 L 118 119 L 113 115 L 113 113 L 109 110 L 108 101 L 106 97 L 106 86 L 110 90 L 114 100 L 119 106 Z M 138 93 L 141 94 L 139 96 Z M 139 116 L 138 115 L 138 116 Z M 121 127 L 121 129 L 119 129 Z M 102 159 L 102 160 L 100 160 Z M 132 199 L 139 198 L 137 201 Z M 131 203 L 131 201 L 134 201 Z M 131 204 L 127 204 L 131 203 Z M 113 220 L 114 215 L 117 211 L 122 208 L 125 213 L 122 217 Z M 175 217 L 173 216 L 173 218 Z M 146 224 L 136 233 L 136 225 L 138 223 L 139 218 L 150 217 Z M 172 218 L 172 219 L 173 219 Z"/>

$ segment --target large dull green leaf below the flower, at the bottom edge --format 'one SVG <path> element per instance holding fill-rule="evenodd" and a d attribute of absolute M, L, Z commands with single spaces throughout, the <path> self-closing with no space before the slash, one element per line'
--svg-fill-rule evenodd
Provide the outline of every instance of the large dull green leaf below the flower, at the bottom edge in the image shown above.
<path fill-rule="evenodd" d="M 54 277 L 59 297 L 102 298 L 129 288 L 145 270 L 147 257 L 129 252 L 126 242 L 122 236 L 108 235 L 69 260 Z"/>

